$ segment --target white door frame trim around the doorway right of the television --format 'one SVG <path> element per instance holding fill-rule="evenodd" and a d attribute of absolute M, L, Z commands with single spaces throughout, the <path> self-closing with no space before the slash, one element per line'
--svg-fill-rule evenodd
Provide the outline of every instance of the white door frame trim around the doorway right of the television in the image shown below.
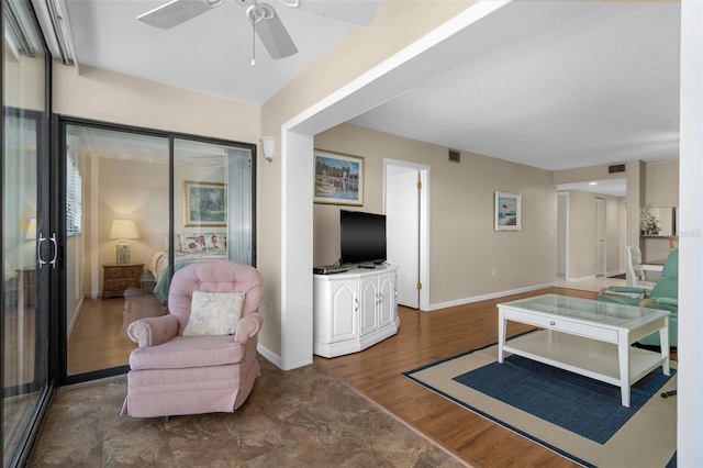
<path fill-rule="evenodd" d="M 387 213 L 386 191 L 388 190 L 388 167 L 397 166 L 416 170 L 420 174 L 420 310 L 429 312 L 429 176 L 431 168 L 424 164 L 383 158 L 383 212 Z"/>

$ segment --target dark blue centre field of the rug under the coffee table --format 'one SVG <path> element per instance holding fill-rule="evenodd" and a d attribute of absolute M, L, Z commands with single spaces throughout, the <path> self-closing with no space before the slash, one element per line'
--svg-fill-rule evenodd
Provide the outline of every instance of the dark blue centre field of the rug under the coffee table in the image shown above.
<path fill-rule="evenodd" d="M 632 386 L 631 406 L 625 408 L 618 387 L 522 356 L 454 378 L 599 444 L 605 444 L 669 379 L 661 367 L 652 370 Z"/>

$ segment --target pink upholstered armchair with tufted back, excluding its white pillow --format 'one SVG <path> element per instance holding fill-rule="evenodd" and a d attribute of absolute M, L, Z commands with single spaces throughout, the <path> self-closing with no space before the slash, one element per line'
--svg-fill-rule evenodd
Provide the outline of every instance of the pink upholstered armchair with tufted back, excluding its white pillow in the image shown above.
<path fill-rule="evenodd" d="M 245 294 L 234 335 L 183 336 L 193 291 Z M 133 322 L 129 336 L 138 347 L 130 355 L 127 395 L 122 413 L 135 417 L 234 412 L 261 375 L 256 337 L 261 275 L 248 265 L 210 261 L 174 275 L 167 315 Z"/>

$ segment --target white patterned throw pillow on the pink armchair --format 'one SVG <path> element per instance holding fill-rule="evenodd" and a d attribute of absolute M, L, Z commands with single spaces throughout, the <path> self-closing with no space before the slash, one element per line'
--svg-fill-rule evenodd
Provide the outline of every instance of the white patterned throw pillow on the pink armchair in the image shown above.
<path fill-rule="evenodd" d="M 243 305 L 243 292 L 193 291 L 183 336 L 234 335 Z"/>

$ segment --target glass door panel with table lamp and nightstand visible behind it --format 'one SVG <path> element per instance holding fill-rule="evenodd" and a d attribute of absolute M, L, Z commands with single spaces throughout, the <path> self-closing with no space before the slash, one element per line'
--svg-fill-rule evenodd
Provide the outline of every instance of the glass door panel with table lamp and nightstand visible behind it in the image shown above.
<path fill-rule="evenodd" d="M 163 312 L 150 271 L 167 250 L 168 138 L 68 124 L 66 174 L 67 375 L 75 376 L 125 366 L 135 346 L 126 326 Z M 138 298 L 126 313 L 125 297 Z"/>

